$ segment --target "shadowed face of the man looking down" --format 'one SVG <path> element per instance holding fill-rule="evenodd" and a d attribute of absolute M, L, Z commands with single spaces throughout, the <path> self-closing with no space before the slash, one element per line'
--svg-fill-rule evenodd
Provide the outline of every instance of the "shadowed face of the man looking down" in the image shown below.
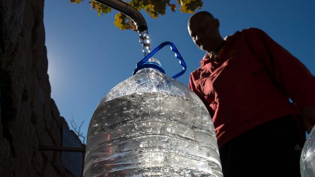
<path fill-rule="evenodd" d="M 193 42 L 207 52 L 216 48 L 218 28 L 211 17 L 198 15 L 189 21 L 188 31 Z"/>

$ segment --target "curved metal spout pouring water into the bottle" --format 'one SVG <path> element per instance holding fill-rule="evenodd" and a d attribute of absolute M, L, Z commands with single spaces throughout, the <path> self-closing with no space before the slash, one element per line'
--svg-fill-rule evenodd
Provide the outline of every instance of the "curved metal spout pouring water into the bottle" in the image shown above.
<path fill-rule="evenodd" d="M 148 26 L 142 14 L 137 9 L 129 5 L 128 3 L 123 2 L 121 0 L 94 0 L 94 1 L 99 2 L 103 5 L 106 5 L 112 9 L 115 9 L 116 11 L 119 11 L 127 15 L 136 24 L 137 30 L 139 33 L 142 31 L 148 30 Z"/>

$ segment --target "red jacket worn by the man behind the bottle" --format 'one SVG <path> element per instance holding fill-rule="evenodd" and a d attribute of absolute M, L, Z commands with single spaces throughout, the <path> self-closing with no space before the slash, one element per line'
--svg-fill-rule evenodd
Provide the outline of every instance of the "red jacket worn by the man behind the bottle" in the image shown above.
<path fill-rule="evenodd" d="M 227 37 L 218 60 L 204 58 L 190 74 L 189 88 L 208 108 L 219 147 L 257 125 L 315 105 L 315 77 L 253 28 Z"/>

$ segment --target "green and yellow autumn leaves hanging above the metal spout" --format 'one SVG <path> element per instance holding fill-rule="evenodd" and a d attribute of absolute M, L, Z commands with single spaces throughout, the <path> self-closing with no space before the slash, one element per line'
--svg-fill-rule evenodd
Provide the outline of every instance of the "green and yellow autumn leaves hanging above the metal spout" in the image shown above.
<path fill-rule="evenodd" d="M 70 0 L 71 3 L 80 3 L 83 0 Z M 128 4 L 132 5 L 138 11 L 144 10 L 152 18 L 157 18 L 158 15 L 165 15 L 166 8 L 170 7 L 172 12 L 175 12 L 177 6 L 179 6 L 179 11 L 182 13 L 194 13 L 195 10 L 201 9 L 203 6 L 202 0 L 124 0 Z M 106 7 L 93 0 L 89 1 L 92 10 L 96 10 L 98 15 L 103 15 L 110 13 L 112 9 Z M 176 3 L 176 4 L 175 4 Z M 122 13 L 118 13 L 115 16 L 114 24 L 119 29 L 133 29 L 136 30 L 136 26 L 133 21 Z"/>

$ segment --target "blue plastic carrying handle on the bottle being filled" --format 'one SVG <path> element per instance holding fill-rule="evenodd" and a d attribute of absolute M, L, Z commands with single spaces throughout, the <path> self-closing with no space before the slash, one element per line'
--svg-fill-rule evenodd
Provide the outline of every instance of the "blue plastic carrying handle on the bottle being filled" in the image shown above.
<path fill-rule="evenodd" d="M 187 69 L 187 66 L 186 66 L 186 63 L 184 61 L 184 59 L 182 58 L 182 56 L 180 55 L 180 53 L 178 52 L 177 48 L 175 47 L 175 45 L 171 42 L 164 42 L 162 44 L 159 44 L 157 46 L 157 48 L 155 48 L 149 55 L 147 55 L 146 57 L 144 57 L 144 59 L 142 59 L 141 61 L 139 61 L 136 65 L 136 70 L 134 72 L 134 74 L 136 73 L 136 71 L 139 70 L 139 68 L 141 68 L 141 66 L 148 60 L 150 59 L 155 53 L 157 53 L 157 51 L 159 51 L 161 48 L 163 48 L 165 45 L 170 45 L 171 46 L 171 50 L 173 52 L 175 52 L 175 57 L 177 59 L 179 59 L 179 64 L 183 66 L 183 70 L 177 74 L 175 74 L 173 76 L 174 79 L 176 79 L 177 77 L 183 75 L 185 72 L 186 72 L 186 69 Z"/>

